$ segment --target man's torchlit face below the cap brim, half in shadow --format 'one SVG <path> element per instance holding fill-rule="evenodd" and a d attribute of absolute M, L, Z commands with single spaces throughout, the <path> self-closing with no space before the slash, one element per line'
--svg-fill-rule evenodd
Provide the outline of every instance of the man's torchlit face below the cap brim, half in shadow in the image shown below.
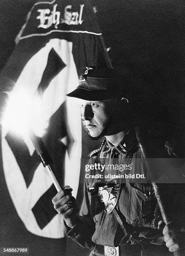
<path fill-rule="evenodd" d="M 83 125 L 92 137 L 99 136 L 107 125 L 116 99 L 89 101 L 78 99 Z"/>

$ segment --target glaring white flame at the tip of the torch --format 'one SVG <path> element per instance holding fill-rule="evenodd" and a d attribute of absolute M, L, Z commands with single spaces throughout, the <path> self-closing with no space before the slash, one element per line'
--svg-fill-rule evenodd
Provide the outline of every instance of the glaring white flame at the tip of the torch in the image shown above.
<path fill-rule="evenodd" d="M 13 90 L 8 93 L 8 102 L 3 113 L 2 125 L 4 131 L 28 137 L 31 130 L 42 137 L 46 133 L 48 120 L 44 118 L 42 98 L 39 95 L 29 95 L 27 90 Z"/>

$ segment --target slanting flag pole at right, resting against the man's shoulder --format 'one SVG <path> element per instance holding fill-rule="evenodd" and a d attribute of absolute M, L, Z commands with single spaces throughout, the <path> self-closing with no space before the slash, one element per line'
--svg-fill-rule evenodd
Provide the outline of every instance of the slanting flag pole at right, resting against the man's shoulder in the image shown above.
<path fill-rule="evenodd" d="M 135 131 L 136 131 L 136 136 L 137 136 L 137 141 L 138 141 L 139 147 L 142 151 L 142 155 L 143 155 L 144 160 L 145 160 L 145 164 L 146 164 L 146 167 L 147 167 L 147 172 L 149 173 L 149 176 L 150 176 L 151 180 L 155 180 L 158 175 L 151 171 L 150 161 L 147 161 L 147 158 L 151 157 L 150 156 L 150 154 L 152 152 L 151 148 L 150 148 L 149 144 L 146 143 L 146 141 L 143 139 L 143 137 L 141 135 L 141 128 L 136 127 Z M 159 208 L 160 208 L 162 219 L 163 219 L 165 224 L 168 224 L 168 223 L 170 223 L 171 218 L 170 218 L 170 216 L 168 215 L 168 212 L 167 212 L 167 205 L 166 205 L 166 202 L 165 202 L 165 198 L 163 196 L 162 188 L 161 188 L 160 184 L 157 184 L 155 182 L 152 182 L 152 187 L 154 189 L 155 196 L 157 198 L 157 202 L 158 202 L 158 205 L 159 205 Z M 184 255 L 180 251 L 175 251 L 173 254 L 174 254 L 174 256 Z"/>

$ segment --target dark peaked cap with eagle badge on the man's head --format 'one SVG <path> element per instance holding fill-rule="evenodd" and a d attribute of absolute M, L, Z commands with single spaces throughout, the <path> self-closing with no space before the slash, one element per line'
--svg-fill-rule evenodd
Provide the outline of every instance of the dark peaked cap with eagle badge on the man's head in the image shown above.
<path fill-rule="evenodd" d="M 67 96 L 83 100 L 108 100 L 120 95 L 118 84 L 114 69 L 86 67 L 79 79 L 79 86 Z"/>

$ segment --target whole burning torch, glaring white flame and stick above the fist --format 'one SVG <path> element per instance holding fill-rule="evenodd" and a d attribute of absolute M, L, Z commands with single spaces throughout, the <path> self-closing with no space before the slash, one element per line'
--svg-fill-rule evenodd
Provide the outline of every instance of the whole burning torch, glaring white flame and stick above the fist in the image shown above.
<path fill-rule="evenodd" d="M 48 174 L 53 180 L 56 190 L 60 191 L 61 186 L 50 166 L 53 161 L 40 137 L 45 133 L 48 125 L 48 118 L 44 118 L 43 113 L 46 111 L 44 111 L 41 97 L 38 95 L 31 96 L 25 89 L 15 90 L 11 93 L 7 92 L 7 95 L 2 118 L 3 126 L 7 131 L 13 128 L 13 131 L 21 134 L 23 138 L 30 137 L 43 166 L 46 167 Z M 40 136 L 36 135 L 36 133 L 39 133 Z"/>

